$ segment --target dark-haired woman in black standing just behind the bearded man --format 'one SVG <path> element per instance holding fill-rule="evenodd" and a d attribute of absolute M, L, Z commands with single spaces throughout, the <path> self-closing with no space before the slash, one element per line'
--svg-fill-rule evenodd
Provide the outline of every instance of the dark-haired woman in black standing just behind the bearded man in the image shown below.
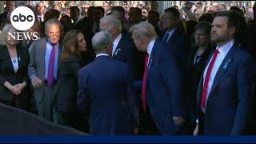
<path fill-rule="evenodd" d="M 190 51 L 187 61 L 186 71 L 187 78 L 189 78 L 186 86 L 187 97 L 187 126 L 189 133 L 192 134 L 196 126 L 196 94 L 198 90 L 198 83 L 203 73 L 206 61 L 210 56 L 214 46 L 210 40 L 211 24 L 209 22 L 199 22 L 194 28 L 194 42 L 196 44 Z"/>

